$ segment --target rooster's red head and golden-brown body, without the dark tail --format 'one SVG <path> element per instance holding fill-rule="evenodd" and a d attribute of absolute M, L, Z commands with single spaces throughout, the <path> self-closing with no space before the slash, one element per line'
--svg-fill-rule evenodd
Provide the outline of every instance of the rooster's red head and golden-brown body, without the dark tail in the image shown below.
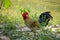
<path fill-rule="evenodd" d="M 40 29 L 39 23 L 37 21 L 31 19 L 28 16 L 28 12 L 23 12 L 22 17 L 23 17 L 23 20 L 24 20 L 26 26 L 29 27 L 32 32 L 35 32 L 36 30 Z"/>

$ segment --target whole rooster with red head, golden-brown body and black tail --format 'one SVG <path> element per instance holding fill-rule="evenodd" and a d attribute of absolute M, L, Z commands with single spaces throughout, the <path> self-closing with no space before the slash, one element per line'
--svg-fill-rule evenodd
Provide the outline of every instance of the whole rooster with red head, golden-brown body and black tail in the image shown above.
<path fill-rule="evenodd" d="M 49 13 L 50 13 L 49 11 L 42 13 L 39 16 L 38 22 L 31 19 L 28 16 L 28 12 L 23 12 L 22 17 L 26 26 L 28 26 L 31 29 L 31 31 L 36 31 L 37 29 L 40 29 L 39 24 L 43 26 L 47 26 L 50 19 L 53 19 L 53 17 Z"/>

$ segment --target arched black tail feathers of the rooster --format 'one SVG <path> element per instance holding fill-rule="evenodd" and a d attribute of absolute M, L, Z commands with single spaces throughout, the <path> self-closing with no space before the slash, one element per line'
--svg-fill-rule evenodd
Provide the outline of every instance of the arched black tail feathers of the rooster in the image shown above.
<path fill-rule="evenodd" d="M 50 15 L 50 11 L 44 12 L 39 16 L 39 23 L 43 26 L 47 26 L 50 19 L 53 19 Z"/>

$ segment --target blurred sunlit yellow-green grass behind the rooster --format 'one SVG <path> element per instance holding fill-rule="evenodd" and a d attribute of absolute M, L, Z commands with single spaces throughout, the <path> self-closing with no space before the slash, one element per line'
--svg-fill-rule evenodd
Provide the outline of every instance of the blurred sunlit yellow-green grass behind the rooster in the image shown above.
<path fill-rule="evenodd" d="M 60 0 L 10 0 L 11 6 L 6 9 L 0 10 L 2 16 L 7 15 L 9 20 L 14 20 L 20 25 L 24 25 L 21 16 L 20 8 L 26 8 L 30 10 L 31 18 L 38 18 L 39 15 L 45 11 L 50 11 L 53 16 L 52 24 L 60 24 Z M 34 16 L 36 14 L 36 16 Z M 34 17 L 32 17 L 34 16 Z"/>

